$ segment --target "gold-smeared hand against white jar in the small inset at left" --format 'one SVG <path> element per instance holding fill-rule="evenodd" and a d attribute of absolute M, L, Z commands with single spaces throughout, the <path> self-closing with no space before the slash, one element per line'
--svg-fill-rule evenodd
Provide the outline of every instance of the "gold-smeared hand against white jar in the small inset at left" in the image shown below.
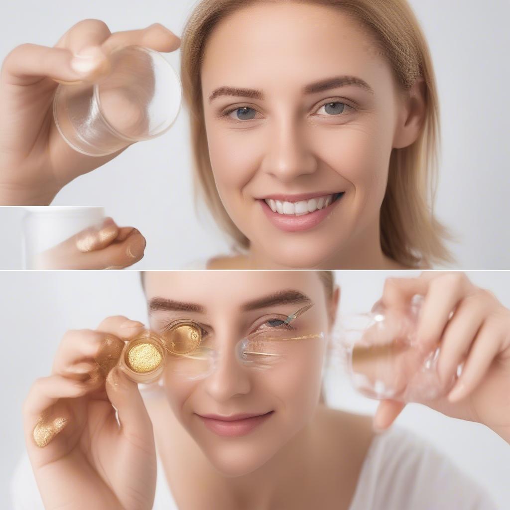
<path fill-rule="evenodd" d="M 39 253 L 36 269 L 123 269 L 143 258 L 145 238 L 136 228 L 118 227 L 106 218 Z"/>

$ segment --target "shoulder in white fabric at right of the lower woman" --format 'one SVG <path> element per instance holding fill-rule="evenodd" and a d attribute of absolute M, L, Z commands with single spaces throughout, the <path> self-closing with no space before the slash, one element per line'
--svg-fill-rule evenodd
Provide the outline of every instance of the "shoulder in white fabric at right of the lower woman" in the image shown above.
<path fill-rule="evenodd" d="M 374 436 L 350 510 L 495 510 L 488 493 L 446 455 L 399 425 Z"/>

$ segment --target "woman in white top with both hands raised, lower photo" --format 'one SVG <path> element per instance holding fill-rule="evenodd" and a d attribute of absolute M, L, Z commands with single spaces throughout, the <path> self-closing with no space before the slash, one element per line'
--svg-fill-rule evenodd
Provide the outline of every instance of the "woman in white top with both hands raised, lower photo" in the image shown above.
<path fill-rule="evenodd" d="M 292 344 L 285 362 L 267 370 L 236 358 L 240 339 L 281 325 L 297 309 L 308 307 L 287 322 L 297 335 L 327 337 L 339 302 L 330 272 L 147 272 L 144 290 L 151 329 L 192 321 L 222 356 L 195 379 L 166 365 L 159 391 L 142 398 L 118 366 L 106 381 L 94 374 L 105 346 L 132 338 L 143 324 L 117 316 L 97 330 L 69 331 L 52 375 L 35 382 L 23 406 L 45 508 L 495 508 L 474 480 L 411 432 L 374 435 L 370 417 L 328 409 L 320 399 L 320 336 Z M 398 310 L 415 294 L 425 298 L 421 345 L 442 342 L 443 380 L 469 351 L 449 395 L 421 403 L 483 423 L 510 443 L 510 311 L 461 273 L 388 279 L 381 303 Z M 80 373 L 92 374 L 89 382 L 78 382 Z M 403 406 L 381 401 L 373 425 L 387 429 Z M 259 418 L 225 425 L 204 417 L 211 413 Z M 34 436 L 41 415 L 43 447 Z M 14 487 L 18 508 L 41 507 L 28 462 Z"/>

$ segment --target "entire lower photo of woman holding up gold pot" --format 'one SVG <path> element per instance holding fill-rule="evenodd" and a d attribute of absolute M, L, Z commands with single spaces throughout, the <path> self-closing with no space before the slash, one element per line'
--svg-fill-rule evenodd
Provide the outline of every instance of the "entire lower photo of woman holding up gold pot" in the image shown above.
<path fill-rule="evenodd" d="M 510 504 L 509 272 L 4 271 L 0 289 L 16 510 Z"/>

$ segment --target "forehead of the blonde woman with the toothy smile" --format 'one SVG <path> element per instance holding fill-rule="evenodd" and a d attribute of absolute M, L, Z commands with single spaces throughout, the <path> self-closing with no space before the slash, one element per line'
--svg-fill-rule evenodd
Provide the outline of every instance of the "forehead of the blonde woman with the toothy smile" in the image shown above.
<path fill-rule="evenodd" d="M 310 81 L 354 75 L 376 88 L 389 66 L 375 39 L 351 16 L 330 7 L 256 4 L 222 19 L 208 40 L 204 96 L 222 85 L 291 94 Z"/>

